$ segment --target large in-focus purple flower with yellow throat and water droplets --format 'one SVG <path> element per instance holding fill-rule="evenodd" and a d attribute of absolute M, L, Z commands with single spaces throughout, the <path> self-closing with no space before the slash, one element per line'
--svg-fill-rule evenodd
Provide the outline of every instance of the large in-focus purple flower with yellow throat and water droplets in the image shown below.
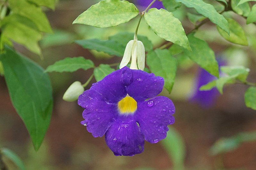
<path fill-rule="evenodd" d="M 142 153 L 144 140 L 157 143 L 174 123 L 172 101 L 156 97 L 163 86 L 164 79 L 153 73 L 126 66 L 114 71 L 78 97 L 84 108 L 81 124 L 94 137 L 105 134 L 116 156 Z"/>

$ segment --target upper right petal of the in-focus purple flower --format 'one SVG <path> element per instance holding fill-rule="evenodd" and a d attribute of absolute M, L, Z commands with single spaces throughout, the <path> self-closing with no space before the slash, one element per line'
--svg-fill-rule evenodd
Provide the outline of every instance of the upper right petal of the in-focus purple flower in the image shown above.
<path fill-rule="evenodd" d="M 164 79 L 141 70 L 132 70 L 131 84 L 127 87 L 127 93 L 137 102 L 158 95 L 164 87 Z"/>

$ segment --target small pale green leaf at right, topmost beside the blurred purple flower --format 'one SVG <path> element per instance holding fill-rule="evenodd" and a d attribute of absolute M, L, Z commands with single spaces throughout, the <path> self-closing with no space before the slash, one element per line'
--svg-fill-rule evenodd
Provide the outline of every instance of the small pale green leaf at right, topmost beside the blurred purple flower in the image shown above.
<path fill-rule="evenodd" d="M 245 68 L 244 66 L 221 66 L 221 72 L 228 74 L 232 78 L 236 78 L 240 81 L 245 81 L 250 72 L 249 68 Z"/>

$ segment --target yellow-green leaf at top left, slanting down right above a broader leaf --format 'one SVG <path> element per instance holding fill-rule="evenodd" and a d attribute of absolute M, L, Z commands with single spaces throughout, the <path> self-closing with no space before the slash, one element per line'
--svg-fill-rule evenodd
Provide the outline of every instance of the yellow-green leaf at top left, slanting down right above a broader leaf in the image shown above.
<path fill-rule="evenodd" d="M 51 25 L 41 7 L 28 3 L 26 0 L 8 0 L 8 3 L 13 13 L 33 21 L 39 31 L 52 33 Z"/>

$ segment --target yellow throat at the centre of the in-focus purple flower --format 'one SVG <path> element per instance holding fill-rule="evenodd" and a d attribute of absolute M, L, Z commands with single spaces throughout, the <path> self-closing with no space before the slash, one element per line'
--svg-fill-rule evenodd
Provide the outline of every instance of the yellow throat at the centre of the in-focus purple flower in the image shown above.
<path fill-rule="evenodd" d="M 121 114 L 132 114 L 137 110 L 137 102 L 127 95 L 118 102 L 118 110 Z"/>

